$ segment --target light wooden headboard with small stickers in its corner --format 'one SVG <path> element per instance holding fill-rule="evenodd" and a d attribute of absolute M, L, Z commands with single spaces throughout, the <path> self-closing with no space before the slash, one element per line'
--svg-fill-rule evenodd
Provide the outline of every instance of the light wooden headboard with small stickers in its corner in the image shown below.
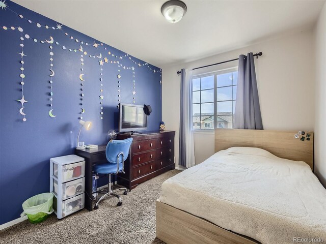
<path fill-rule="evenodd" d="M 305 132 L 299 138 L 294 134 L 298 131 L 215 129 L 215 153 L 232 146 L 258 147 L 280 158 L 304 161 L 314 171 L 314 133 Z"/>

